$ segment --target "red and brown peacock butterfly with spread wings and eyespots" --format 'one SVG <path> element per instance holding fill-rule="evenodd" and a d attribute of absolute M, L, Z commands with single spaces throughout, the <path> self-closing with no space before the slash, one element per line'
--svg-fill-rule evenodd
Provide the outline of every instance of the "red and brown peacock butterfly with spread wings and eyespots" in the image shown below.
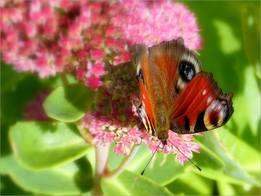
<path fill-rule="evenodd" d="M 195 134 L 228 122 L 234 112 L 234 93 L 222 93 L 182 37 L 148 49 L 137 44 L 136 50 L 139 100 L 134 104 L 150 135 L 166 145 L 169 130 Z"/>

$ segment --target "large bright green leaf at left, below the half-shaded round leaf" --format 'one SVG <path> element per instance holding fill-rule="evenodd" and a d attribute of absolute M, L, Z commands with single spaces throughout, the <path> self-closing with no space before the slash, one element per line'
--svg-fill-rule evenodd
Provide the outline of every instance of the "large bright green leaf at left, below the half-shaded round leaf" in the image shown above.
<path fill-rule="evenodd" d="M 91 147 L 74 124 L 62 122 L 19 122 L 9 138 L 18 162 L 33 170 L 78 159 Z"/>

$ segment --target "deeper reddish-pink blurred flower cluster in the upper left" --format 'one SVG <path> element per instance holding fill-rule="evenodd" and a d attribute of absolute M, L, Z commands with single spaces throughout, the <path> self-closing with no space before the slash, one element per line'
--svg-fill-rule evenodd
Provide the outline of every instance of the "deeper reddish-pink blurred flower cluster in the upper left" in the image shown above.
<path fill-rule="evenodd" d="M 2 59 L 40 77 L 65 70 L 96 90 L 104 85 L 104 60 L 131 61 L 110 1 L 1 1 Z M 116 22 L 117 21 L 117 22 Z M 123 21 L 121 21 L 123 23 Z"/>

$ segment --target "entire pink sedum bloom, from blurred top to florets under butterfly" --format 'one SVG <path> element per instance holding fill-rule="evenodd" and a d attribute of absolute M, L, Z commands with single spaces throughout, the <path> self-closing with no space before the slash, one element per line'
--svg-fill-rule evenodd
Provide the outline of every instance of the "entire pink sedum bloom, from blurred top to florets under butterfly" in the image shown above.
<path fill-rule="evenodd" d="M 152 153 L 160 141 L 138 119 L 135 44 L 146 46 L 182 36 L 185 46 L 202 48 L 193 13 L 173 1 L 1 1 L 2 60 L 18 71 L 40 77 L 65 71 L 104 99 L 82 119 L 93 141 L 128 155 L 130 146 L 145 143 Z M 193 136 L 169 131 L 169 140 L 187 157 L 200 148 Z M 187 160 L 167 141 L 158 151 Z"/>

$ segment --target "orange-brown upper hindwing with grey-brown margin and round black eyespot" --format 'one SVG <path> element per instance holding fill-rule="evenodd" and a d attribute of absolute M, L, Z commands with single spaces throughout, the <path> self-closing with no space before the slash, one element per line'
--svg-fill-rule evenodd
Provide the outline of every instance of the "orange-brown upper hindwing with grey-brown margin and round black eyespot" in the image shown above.
<path fill-rule="evenodd" d="M 149 47 L 149 65 L 159 74 L 167 107 L 171 107 L 177 94 L 201 71 L 201 62 L 184 46 L 181 37 Z"/>

